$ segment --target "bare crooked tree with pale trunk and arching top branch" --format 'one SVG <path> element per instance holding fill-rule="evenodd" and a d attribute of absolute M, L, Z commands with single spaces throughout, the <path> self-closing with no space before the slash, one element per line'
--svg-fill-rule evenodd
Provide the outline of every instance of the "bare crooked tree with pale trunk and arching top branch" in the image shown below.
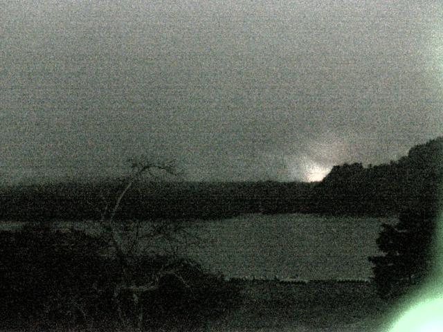
<path fill-rule="evenodd" d="M 181 174 L 178 172 L 177 163 L 174 160 L 156 162 L 150 158 L 142 157 L 128 161 L 131 163 L 132 172 L 125 179 L 123 189 L 112 197 L 114 199 L 102 195 L 104 207 L 99 223 L 102 228 L 101 237 L 110 244 L 120 268 L 120 283 L 114 291 L 120 322 L 128 329 L 142 331 L 143 324 L 147 319 L 143 312 L 143 295 L 156 291 L 161 279 L 167 275 L 173 275 L 183 286 L 188 287 L 185 279 L 179 274 L 179 270 L 184 262 L 186 264 L 191 262 L 179 259 L 177 250 L 174 250 L 177 246 L 172 245 L 166 255 L 168 259 L 152 270 L 151 275 L 141 277 L 136 273 L 136 264 L 140 263 L 138 258 L 141 255 L 146 257 L 147 250 L 151 250 L 151 255 L 158 255 L 158 252 L 150 247 L 156 239 L 164 239 L 170 245 L 179 244 L 191 234 L 186 232 L 180 221 L 151 221 L 148 224 L 147 221 L 141 220 L 125 221 L 125 223 L 118 220 L 116 216 L 123 199 L 127 192 L 138 181 L 141 181 L 143 176 L 149 176 L 155 181 L 162 181 L 167 177 L 177 177 Z M 144 243 L 144 246 L 141 246 L 141 243 Z M 128 313 L 124 309 L 123 294 L 129 294 L 132 300 L 132 313 Z"/>

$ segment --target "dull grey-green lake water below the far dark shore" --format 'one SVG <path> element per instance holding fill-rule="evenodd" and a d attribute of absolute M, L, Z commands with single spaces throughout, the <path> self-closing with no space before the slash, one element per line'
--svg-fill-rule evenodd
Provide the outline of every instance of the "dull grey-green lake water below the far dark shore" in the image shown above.
<path fill-rule="evenodd" d="M 179 252 L 226 277 L 369 279 L 368 256 L 380 254 L 376 239 L 381 223 L 395 222 L 395 218 L 311 214 L 247 214 L 196 221 L 190 232 L 199 237 L 199 246 L 182 246 Z M 3 223 L 3 229 L 17 225 Z M 89 230 L 95 228 L 93 223 L 86 225 Z"/>

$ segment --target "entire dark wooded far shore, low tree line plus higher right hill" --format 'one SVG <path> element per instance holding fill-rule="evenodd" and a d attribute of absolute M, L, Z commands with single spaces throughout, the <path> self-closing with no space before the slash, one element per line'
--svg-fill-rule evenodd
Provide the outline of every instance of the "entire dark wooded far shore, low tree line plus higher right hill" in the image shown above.
<path fill-rule="evenodd" d="M 190 183 L 141 181 L 127 192 L 116 219 L 228 218 L 244 213 L 397 215 L 433 205 L 443 179 L 443 137 L 389 164 L 334 166 L 320 183 Z M 0 188 L 0 219 L 99 219 L 123 179 Z"/>

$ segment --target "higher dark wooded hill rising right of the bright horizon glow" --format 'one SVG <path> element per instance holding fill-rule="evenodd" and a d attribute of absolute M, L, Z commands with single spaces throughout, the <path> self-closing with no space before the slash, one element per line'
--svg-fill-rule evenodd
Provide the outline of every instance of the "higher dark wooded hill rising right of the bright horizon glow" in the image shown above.
<path fill-rule="evenodd" d="M 443 136 L 412 147 L 408 156 L 363 167 L 334 166 L 314 188 L 312 212 L 397 214 L 410 206 L 433 207 L 443 181 Z"/>

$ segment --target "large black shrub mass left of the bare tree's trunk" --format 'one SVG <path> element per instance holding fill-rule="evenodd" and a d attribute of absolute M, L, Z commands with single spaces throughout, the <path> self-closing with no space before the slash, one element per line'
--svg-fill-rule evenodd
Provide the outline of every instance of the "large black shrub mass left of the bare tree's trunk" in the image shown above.
<path fill-rule="evenodd" d="M 102 246 L 84 232 L 55 231 L 42 223 L 0 232 L 2 317 L 10 324 L 62 320 L 71 325 L 102 315 L 112 304 L 116 279 L 116 267 L 98 255 Z"/>

